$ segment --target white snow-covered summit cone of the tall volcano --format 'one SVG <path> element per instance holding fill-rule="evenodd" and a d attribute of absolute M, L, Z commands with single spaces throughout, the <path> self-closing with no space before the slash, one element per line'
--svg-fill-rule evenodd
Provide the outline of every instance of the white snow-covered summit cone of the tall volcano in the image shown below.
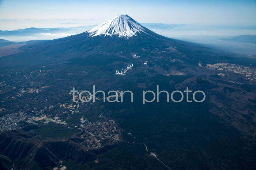
<path fill-rule="evenodd" d="M 94 27 L 87 31 L 90 33 L 90 36 L 104 35 L 104 36 L 126 36 L 132 37 L 136 36 L 137 33 L 144 32 L 146 30 L 142 25 L 137 23 L 128 15 L 117 15 L 111 20 L 106 21 L 105 23 Z"/>

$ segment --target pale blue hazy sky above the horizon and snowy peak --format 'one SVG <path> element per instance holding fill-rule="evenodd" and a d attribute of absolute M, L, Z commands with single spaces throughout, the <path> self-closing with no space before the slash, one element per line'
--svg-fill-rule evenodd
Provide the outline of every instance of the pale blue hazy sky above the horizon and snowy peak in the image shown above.
<path fill-rule="evenodd" d="M 118 14 L 139 23 L 256 25 L 256 0 L 0 0 L 0 29 L 94 25 Z"/>

